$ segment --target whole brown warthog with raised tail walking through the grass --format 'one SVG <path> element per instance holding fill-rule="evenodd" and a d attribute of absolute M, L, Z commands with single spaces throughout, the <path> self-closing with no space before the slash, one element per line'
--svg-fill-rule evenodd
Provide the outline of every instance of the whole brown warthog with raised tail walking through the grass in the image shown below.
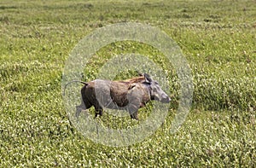
<path fill-rule="evenodd" d="M 144 107 L 148 101 L 155 100 L 168 103 L 170 97 L 161 90 L 157 81 L 147 73 L 126 80 L 110 81 L 96 79 L 84 84 L 81 89 L 81 104 L 77 106 L 76 117 L 82 110 L 95 107 L 96 115 L 102 116 L 103 108 L 122 109 L 130 113 L 131 119 L 138 119 L 137 110 Z M 66 84 L 67 86 L 67 84 Z M 65 87 L 66 88 L 66 87 Z"/>

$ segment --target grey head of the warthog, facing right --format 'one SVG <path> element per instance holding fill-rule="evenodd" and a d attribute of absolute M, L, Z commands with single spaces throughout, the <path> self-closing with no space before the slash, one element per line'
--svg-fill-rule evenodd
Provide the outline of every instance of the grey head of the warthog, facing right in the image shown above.
<path fill-rule="evenodd" d="M 144 73 L 146 84 L 148 84 L 148 90 L 150 94 L 150 99 L 155 101 L 160 101 L 168 103 L 171 101 L 171 98 L 167 96 L 166 92 L 160 88 L 160 85 L 157 81 L 150 78 L 147 73 Z"/>

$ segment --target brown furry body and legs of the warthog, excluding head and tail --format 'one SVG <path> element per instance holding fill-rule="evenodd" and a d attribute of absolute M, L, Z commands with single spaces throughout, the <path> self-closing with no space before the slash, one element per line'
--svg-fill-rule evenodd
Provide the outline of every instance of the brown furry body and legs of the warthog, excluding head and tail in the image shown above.
<path fill-rule="evenodd" d="M 130 111 L 129 113 L 132 119 L 137 119 L 137 109 L 143 107 L 147 101 L 150 101 L 150 97 L 148 97 L 145 88 L 137 86 L 137 84 L 142 84 L 143 82 L 145 82 L 145 78 L 140 76 L 116 81 L 97 79 L 84 84 L 81 90 L 82 101 L 81 104 L 77 106 L 77 117 L 82 109 L 88 109 L 94 106 L 96 116 L 102 115 L 103 107 L 112 109 L 124 108 L 124 110 L 128 109 L 127 111 Z M 100 97 L 96 96 L 96 87 L 100 88 L 101 92 L 97 94 L 97 96 L 101 95 Z M 131 89 L 133 89 L 133 91 L 130 91 Z M 142 96 L 137 93 L 141 93 L 140 95 Z M 146 96 L 143 96 L 144 93 L 146 93 Z M 110 96 L 108 94 L 110 94 Z"/>

